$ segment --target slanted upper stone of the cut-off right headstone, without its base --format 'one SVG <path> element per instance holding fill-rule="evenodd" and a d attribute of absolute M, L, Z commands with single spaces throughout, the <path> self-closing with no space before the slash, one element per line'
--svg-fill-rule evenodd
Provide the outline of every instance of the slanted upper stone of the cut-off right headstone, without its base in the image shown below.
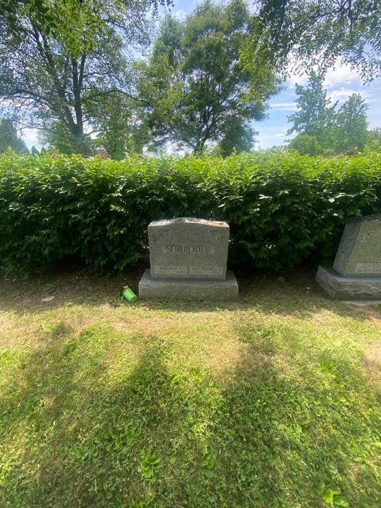
<path fill-rule="evenodd" d="M 381 276 L 381 214 L 348 220 L 333 268 L 344 277 Z"/>

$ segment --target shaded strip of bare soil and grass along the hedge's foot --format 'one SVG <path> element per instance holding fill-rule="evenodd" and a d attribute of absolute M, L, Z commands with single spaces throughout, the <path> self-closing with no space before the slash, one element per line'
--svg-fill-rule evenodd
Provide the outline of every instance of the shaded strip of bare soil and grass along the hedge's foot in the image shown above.
<path fill-rule="evenodd" d="M 0 310 L 25 315 L 65 308 L 67 305 L 117 307 L 129 305 L 120 298 L 120 289 L 128 283 L 138 294 L 138 282 L 143 270 L 132 270 L 115 277 L 96 277 L 84 272 L 54 272 L 28 281 L 8 280 L 0 289 Z M 277 273 L 238 273 L 240 287 L 237 302 L 185 302 L 179 300 L 138 301 L 134 306 L 150 310 L 173 312 L 219 312 L 255 308 L 262 313 L 308 317 L 321 311 L 341 316 L 356 316 L 358 320 L 381 318 L 380 305 L 356 307 L 327 296 L 314 281 L 312 270 L 283 271 L 285 282 Z M 43 298 L 53 296 L 51 301 Z"/>

